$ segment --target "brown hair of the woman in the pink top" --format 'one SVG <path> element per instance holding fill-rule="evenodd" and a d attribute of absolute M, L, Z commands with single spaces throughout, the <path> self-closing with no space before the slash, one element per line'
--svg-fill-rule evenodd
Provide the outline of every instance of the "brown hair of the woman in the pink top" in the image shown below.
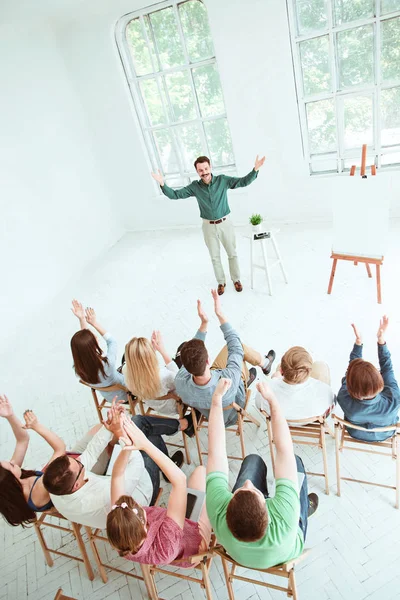
<path fill-rule="evenodd" d="M 107 515 L 107 537 L 120 556 L 135 554 L 147 536 L 143 508 L 132 496 L 121 496 Z"/>

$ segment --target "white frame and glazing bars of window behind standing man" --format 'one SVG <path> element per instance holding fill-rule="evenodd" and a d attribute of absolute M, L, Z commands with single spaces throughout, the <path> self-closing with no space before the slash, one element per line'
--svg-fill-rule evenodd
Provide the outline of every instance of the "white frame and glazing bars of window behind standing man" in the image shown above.
<path fill-rule="evenodd" d="M 187 1 L 190 1 L 190 0 L 164 0 L 163 2 L 159 2 L 157 4 L 152 4 L 150 6 L 146 6 L 139 10 L 132 11 L 132 12 L 129 12 L 129 13 L 123 15 L 122 17 L 120 17 L 118 19 L 118 21 L 115 25 L 115 42 L 117 45 L 117 50 L 118 50 L 118 53 L 119 53 L 119 56 L 121 59 L 122 68 L 125 73 L 126 81 L 127 81 L 128 88 L 130 91 L 130 96 L 131 96 L 131 99 L 133 102 L 133 106 L 135 108 L 136 124 L 141 133 L 143 144 L 147 150 L 148 159 L 150 161 L 151 168 L 153 169 L 153 171 L 157 171 L 159 169 L 161 171 L 161 173 L 163 173 L 164 178 L 166 180 L 171 181 L 171 180 L 178 180 L 180 178 L 181 183 L 174 185 L 174 187 L 176 187 L 176 188 L 183 187 L 183 186 L 191 183 L 193 178 L 197 177 L 197 173 L 195 171 L 194 166 L 192 166 L 190 169 L 186 169 L 185 164 L 184 164 L 184 162 L 185 162 L 184 150 L 182 147 L 180 147 L 179 136 L 175 135 L 174 130 L 179 129 L 180 127 L 182 127 L 184 125 L 197 126 L 200 131 L 200 139 L 201 139 L 203 148 L 206 149 L 205 153 L 207 156 L 210 157 L 210 160 L 212 161 L 210 147 L 209 147 L 209 144 L 207 141 L 207 135 L 206 135 L 204 123 L 217 121 L 220 119 L 226 119 L 226 122 L 229 127 L 229 121 L 228 121 L 228 115 L 227 115 L 227 111 L 226 111 L 226 103 L 225 103 L 225 98 L 224 98 L 224 93 L 223 93 L 223 88 L 222 88 L 222 82 L 221 82 L 221 93 L 222 93 L 222 99 L 224 102 L 225 111 L 221 114 L 208 116 L 208 117 L 203 117 L 201 114 L 199 98 L 197 95 L 197 90 L 196 90 L 196 86 L 195 86 L 195 82 L 194 82 L 194 78 L 193 78 L 193 69 L 196 69 L 198 67 L 207 66 L 207 65 L 215 65 L 216 69 L 218 71 L 218 75 L 219 75 L 219 69 L 218 69 L 218 62 L 217 62 L 215 48 L 214 48 L 214 55 L 211 58 L 207 58 L 207 59 L 200 60 L 197 62 L 190 61 L 188 49 L 186 47 L 185 34 L 183 32 L 182 23 L 181 23 L 180 17 L 179 17 L 179 6 L 182 4 L 185 4 Z M 207 10 L 207 17 L 208 17 L 207 6 L 203 2 L 203 0 L 199 0 L 199 1 L 202 2 L 202 4 L 204 4 L 204 6 Z M 169 7 L 173 8 L 174 16 L 175 16 L 176 22 L 178 23 L 178 34 L 180 37 L 185 62 L 182 65 L 178 65 L 176 67 L 170 67 L 170 68 L 165 69 L 161 66 L 161 61 L 160 61 L 161 68 L 160 68 L 160 70 L 157 70 L 158 67 L 157 67 L 157 65 L 154 64 L 153 53 L 150 51 L 150 60 L 151 60 L 153 72 L 148 73 L 146 75 L 136 75 L 134 63 L 131 58 L 131 53 L 130 53 L 130 49 L 129 49 L 129 43 L 128 43 L 127 36 L 126 36 L 126 28 L 132 20 L 139 18 L 141 21 L 141 24 L 142 24 L 142 31 L 144 32 L 146 42 L 149 46 L 148 32 L 144 25 L 144 17 L 146 17 L 147 15 L 150 15 L 152 13 L 161 11 L 165 8 L 169 8 Z M 213 42 L 213 47 L 214 47 L 214 41 L 212 40 L 212 42 Z M 155 39 L 153 39 L 153 43 L 154 43 L 155 52 L 157 53 L 157 56 L 159 57 L 160 54 L 159 54 L 159 50 L 157 48 L 157 43 L 156 43 Z M 171 101 L 168 99 L 168 88 L 166 85 L 164 86 L 164 91 L 165 91 L 165 98 L 167 99 L 167 105 L 164 102 L 164 94 L 161 93 L 161 86 L 163 85 L 162 77 L 165 77 L 169 74 L 173 74 L 176 72 L 184 72 L 184 73 L 188 73 L 188 75 L 189 75 L 190 88 L 191 88 L 191 92 L 192 92 L 193 99 L 194 99 L 194 106 L 195 106 L 195 113 L 196 113 L 195 119 L 185 119 L 185 120 L 177 121 L 174 118 L 173 106 L 172 106 Z M 164 124 L 152 125 L 150 122 L 149 115 L 148 115 L 147 109 L 146 109 L 146 103 L 145 103 L 145 100 L 142 97 L 142 93 L 140 91 L 140 82 L 144 81 L 146 79 L 153 79 L 157 84 L 161 102 L 162 102 L 163 109 L 164 109 L 164 114 L 166 116 L 166 123 L 164 123 Z M 168 173 L 167 175 L 165 175 L 163 172 L 161 158 L 160 158 L 157 146 L 156 146 L 156 142 L 154 140 L 154 136 L 152 135 L 152 132 L 157 131 L 157 130 L 167 130 L 168 132 L 171 132 L 172 145 L 173 145 L 175 155 L 177 157 L 178 169 L 179 169 L 179 171 L 177 171 L 176 173 Z M 213 173 L 215 173 L 215 174 L 222 173 L 222 172 L 234 173 L 234 174 L 236 173 L 235 151 L 234 151 L 233 140 L 232 140 L 230 128 L 229 128 L 229 133 L 231 136 L 233 163 L 230 163 L 227 165 L 222 165 L 222 166 L 216 166 L 216 167 L 213 166 Z M 195 159 L 196 159 L 196 157 L 194 156 L 193 162 Z"/>

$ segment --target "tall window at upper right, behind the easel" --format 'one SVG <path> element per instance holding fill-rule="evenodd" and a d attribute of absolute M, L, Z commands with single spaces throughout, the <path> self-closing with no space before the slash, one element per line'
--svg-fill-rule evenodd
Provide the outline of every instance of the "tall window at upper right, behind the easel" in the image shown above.
<path fill-rule="evenodd" d="M 400 166 L 400 0 L 287 0 L 310 172 Z"/>

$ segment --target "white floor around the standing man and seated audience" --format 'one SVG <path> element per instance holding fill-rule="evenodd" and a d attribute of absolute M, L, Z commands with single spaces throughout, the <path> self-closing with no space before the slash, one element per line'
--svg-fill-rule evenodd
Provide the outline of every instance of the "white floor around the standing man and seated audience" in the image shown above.
<path fill-rule="evenodd" d="M 304 345 L 315 358 L 329 362 L 332 382 L 339 388 L 353 343 L 350 323 L 354 320 L 364 333 L 365 357 L 376 363 L 376 330 L 379 316 L 391 318 L 388 345 L 395 366 L 400 362 L 400 315 L 398 311 L 398 269 L 400 225 L 393 223 L 390 251 L 383 267 L 383 305 L 376 303 L 375 281 L 369 280 L 362 265 L 340 264 L 333 294 L 326 289 L 330 273 L 330 230 L 326 226 L 287 226 L 278 234 L 289 276 L 289 284 L 274 273 L 274 295 L 267 294 L 265 277 L 256 273 L 250 289 L 249 241 L 238 230 L 239 256 L 244 291 L 238 294 L 228 283 L 223 307 L 242 339 L 260 351 L 274 348 L 280 356 L 291 345 Z M 201 232 L 172 231 L 126 235 L 106 256 L 87 269 L 50 307 L 43 309 L 14 347 L 7 348 L 1 361 L 0 387 L 13 401 L 16 412 L 32 408 L 39 418 L 64 437 L 67 444 L 96 422 L 90 392 L 81 389 L 73 370 L 69 339 L 77 323 L 69 301 L 77 297 L 96 308 L 99 320 L 117 337 L 122 354 L 133 335 L 149 336 L 161 329 L 173 351 L 197 328 L 196 299 L 201 298 L 211 317 L 207 345 L 214 356 L 222 335 L 212 315 L 210 288 L 214 285 L 211 265 Z M 254 409 L 253 409 L 254 410 Z M 0 423 L 1 457 L 12 453 L 12 435 Z M 265 427 L 246 426 L 247 452 L 257 451 L 270 466 Z M 197 464 L 195 444 L 192 457 Z M 228 450 L 237 439 L 228 438 Z M 297 449 L 306 468 L 322 468 L 319 452 Z M 400 511 L 394 509 L 394 492 L 359 484 L 343 483 L 342 497 L 336 496 L 334 444 L 328 440 L 331 493 L 323 492 L 322 478 L 311 478 L 309 487 L 320 495 L 318 513 L 310 521 L 307 547 L 310 556 L 297 572 L 300 598 L 390 599 L 400 587 Z M 45 444 L 31 435 L 26 465 L 40 467 L 48 458 Z M 343 457 L 343 467 L 360 479 L 394 481 L 394 463 L 371 455 Z M 190 473 L 193 466 L 185 467 Z M 238 464 L 231 463 L 234 480 Z M 54 544 L 68 544 L 68 537 L 50 536 Z M 70 547 L 70 546 L 69 546 Z M 90 552 L 90 550 L 89 550 Z M 0 525 L 0 600 L 50 600 L 58 587 L 64 593 L 85 600 L 102 598 L 140 600 L 143 586 L 135 580 L 110 573 L 102 584 L 98 573 L 90 582 L 78 563 L 57 558 L 53 568 L 45 565 L 32 529 Z M 93 561 L 94 563 L 94 561 Z M 127 561 L 121 561 L 127 565 Z M 129 579 L 129 580 L 128 580 Z M 227 592 L 218 561 L 212 567 L 214 597 L 225 600 Z M 236 584 L 236 598 L 284 598 L 281 593 Z M 159 592 L 166 600 L 203 598 L 200 588 L 171 577 L 160 579 Z"/>

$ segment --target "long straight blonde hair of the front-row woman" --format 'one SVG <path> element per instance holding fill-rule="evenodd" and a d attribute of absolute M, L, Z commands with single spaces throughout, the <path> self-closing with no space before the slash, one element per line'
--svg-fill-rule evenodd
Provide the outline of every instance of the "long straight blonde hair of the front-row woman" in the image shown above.
<path fill-rule="evenodd" d="M 147 338 L 132 338 L 125 346 L 125 383 L 130 392 L 143 400 L 161 395 L 160 367 Z"/>

